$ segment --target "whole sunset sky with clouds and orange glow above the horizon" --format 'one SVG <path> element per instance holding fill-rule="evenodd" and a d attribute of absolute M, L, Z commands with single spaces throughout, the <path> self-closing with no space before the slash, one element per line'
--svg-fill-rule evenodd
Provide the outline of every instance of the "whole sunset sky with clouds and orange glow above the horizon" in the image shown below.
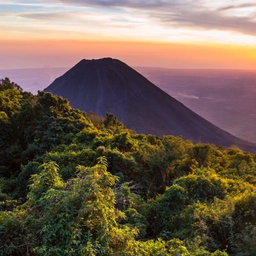
<path fill-rule="evenodd" d="M 256 69 L 256 2 L 0 0 L 0 69 L 132 66 Z"/>

